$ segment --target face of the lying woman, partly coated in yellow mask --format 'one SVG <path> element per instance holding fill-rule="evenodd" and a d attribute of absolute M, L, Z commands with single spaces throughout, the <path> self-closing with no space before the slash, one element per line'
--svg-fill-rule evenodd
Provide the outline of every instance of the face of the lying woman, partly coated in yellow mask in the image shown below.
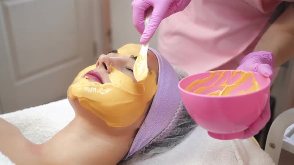
<path fill-rule="evenodd" d="M 95 65 L 81 71 L 68 89 L 69 99 L 96 114 L 110 127 L 126 127 L 146 114 L 157 89 L 158 62 L 148 51 L 149 74 L 137 83 L 134 64 L 141 46 L 127 44 L 101 55 Z M 75 108 L 75 107 L 74 107 Z"/>

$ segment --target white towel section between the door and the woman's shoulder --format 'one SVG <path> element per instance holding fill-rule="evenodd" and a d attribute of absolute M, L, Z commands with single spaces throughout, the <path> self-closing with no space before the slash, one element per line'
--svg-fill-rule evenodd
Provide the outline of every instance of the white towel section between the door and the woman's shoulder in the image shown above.
<path fill-rule="evenodd" d="M 41 144 L 63 129 L 74 111 L 67 99 L 0 115 L 15 125 L 30 141 Z"/>

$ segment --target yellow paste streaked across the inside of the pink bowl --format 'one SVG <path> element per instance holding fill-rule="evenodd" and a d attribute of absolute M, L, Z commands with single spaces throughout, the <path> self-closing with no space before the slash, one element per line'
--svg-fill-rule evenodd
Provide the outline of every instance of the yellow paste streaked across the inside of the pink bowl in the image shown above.
<path fill-rule="evenodd" d="M 229 96 L 246 94 L 261 88 L 251 72 L 212 71 L 209 73 L 209 77 L 192 82 L 186 90 L 197 94 Z"/>

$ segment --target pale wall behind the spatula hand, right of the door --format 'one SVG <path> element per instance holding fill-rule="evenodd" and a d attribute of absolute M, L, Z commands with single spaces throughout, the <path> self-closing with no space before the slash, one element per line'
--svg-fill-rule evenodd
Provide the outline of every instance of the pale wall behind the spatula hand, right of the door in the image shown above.
<path fill-rule="evenodd" d="M 112 47 L 120 48 L 127 43 L 140 44 L 141 34 L 133 26 L 133 0 L 110 0 Z M 157 49 L 157 33 L 154 34 L 149 44 Z"/>

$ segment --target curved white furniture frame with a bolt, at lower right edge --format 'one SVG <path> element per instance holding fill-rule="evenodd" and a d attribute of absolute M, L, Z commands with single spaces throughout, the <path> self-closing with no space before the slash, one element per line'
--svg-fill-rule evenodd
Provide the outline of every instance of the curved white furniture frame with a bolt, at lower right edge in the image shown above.
<path fill-rule="evenodd" d="M 274 163 L 278 165 L 280 154 L 282 150 L 282 144 L 284 139 L 284 133 L 286 129 L 294 123 L 294 108 L 288 109 L 281 113 L 273 122 L 267 142 L 265 151 L 273 159 Z"/>

